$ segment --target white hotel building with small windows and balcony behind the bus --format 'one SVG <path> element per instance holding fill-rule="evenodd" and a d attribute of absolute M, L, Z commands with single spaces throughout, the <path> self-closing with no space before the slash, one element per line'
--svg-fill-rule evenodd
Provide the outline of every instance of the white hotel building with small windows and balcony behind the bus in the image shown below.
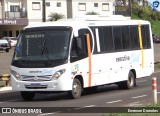
<path fill-rule="evenodd" d="M 114 11 L 114 0 L 0 0 L 0 38 L 18 36 L 23 27 L 48 21 L 51 13 L 73 18 L 88 12 L 112 15 Z"/>

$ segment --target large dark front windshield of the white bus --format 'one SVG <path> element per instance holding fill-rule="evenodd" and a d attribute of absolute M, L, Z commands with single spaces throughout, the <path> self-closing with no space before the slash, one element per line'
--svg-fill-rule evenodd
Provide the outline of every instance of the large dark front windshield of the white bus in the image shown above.
<path fill-rule="evenodd" d="M 18 38 L 12 61 L 17 67 L 53 67 L 68 59 L 71 29 L 27 29 Z"/>

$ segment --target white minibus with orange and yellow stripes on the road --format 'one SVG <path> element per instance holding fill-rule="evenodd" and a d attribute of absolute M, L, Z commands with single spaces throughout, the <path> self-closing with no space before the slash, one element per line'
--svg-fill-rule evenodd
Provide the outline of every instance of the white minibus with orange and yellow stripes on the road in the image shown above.
<path fill-rule="evenodd" d="M 116 84 L 132 89 L 154 72 L 151 24 L 123 16 L 84 16 L 24 27 L 11 66 L 11 85 L 24 100 L 36 93 L 83 91 Z"/>

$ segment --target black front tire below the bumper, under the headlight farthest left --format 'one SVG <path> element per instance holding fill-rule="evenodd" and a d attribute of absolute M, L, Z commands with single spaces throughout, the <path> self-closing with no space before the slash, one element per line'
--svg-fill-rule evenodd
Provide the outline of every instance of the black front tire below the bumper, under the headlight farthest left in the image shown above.
<path fill-rule="evenodd" d="M 21 91 L 21 97 L 25 101 L 31 101 L 31 100 L 33 100 L 34 96 L 35 96 L 34 92 Z"/>

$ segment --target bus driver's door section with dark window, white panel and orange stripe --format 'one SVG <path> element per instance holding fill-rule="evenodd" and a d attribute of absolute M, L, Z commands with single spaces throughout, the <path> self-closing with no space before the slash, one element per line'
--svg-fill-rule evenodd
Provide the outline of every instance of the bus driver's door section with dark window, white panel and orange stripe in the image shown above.
<path fill-rule="evenodd" d="M 89 29 L 79 29 L 78 36 L 73 37 L 70 62 L 72 74 L 81 75 L 84 87 L 90 87 L 93 83 L 92 74 L 92 48 L 93 37 Z"/>

